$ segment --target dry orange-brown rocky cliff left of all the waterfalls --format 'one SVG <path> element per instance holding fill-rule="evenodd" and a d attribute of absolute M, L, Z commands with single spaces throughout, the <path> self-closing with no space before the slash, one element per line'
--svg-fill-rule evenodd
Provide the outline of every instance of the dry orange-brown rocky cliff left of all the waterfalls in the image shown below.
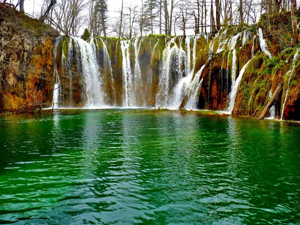
<path fill-rule="evenodd" d="M 0 110 L 31 110 L 50 101 L 55 35 L 44 23 L 0 4 Z"/>

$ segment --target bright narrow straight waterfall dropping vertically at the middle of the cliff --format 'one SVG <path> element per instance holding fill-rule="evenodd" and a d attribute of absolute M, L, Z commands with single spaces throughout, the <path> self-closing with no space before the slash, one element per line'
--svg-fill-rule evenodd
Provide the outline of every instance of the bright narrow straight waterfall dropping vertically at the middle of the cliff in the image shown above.
<path fill-rule="evenodd" d="M 123 88 L 124 88 L 124 100 L 123 106 L 133 106 L 133 84 L 132 84 L 132 73 L 130 66 L 130 53 L 129 53 L 129 41 L 121 41 L 122 50 L 122 74 L 123 74 Z"/>

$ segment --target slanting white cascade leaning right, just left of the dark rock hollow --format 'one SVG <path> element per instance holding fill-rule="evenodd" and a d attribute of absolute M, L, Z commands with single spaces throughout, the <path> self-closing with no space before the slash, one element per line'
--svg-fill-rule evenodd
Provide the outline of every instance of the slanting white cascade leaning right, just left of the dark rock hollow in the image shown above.
<path fill-rule="evenodd" d="M 200 70 L 195 74 L 194 79 L 190 83 L 189 90 L 190 90 L 190 98 L 185 104 L 185 107 L 187 109 L 196 109 L 197 103 L 198 103 L 198 97 L 199 97 L 199 90 L 202 86 L 203 78 L 200 80 L 200 76 L 202 74 L 202 70 L 204 69 L 205 64 L 200 68 Z"/>

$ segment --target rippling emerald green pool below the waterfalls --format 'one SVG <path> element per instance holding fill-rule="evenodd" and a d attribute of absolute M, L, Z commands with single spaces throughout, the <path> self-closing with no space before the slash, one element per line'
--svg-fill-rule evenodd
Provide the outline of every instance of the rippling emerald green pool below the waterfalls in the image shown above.
<path fill-rule="evenodd" d="M 0 117 L 0 224 L 300 223 L 300 126 L 75 111 Z"/>

